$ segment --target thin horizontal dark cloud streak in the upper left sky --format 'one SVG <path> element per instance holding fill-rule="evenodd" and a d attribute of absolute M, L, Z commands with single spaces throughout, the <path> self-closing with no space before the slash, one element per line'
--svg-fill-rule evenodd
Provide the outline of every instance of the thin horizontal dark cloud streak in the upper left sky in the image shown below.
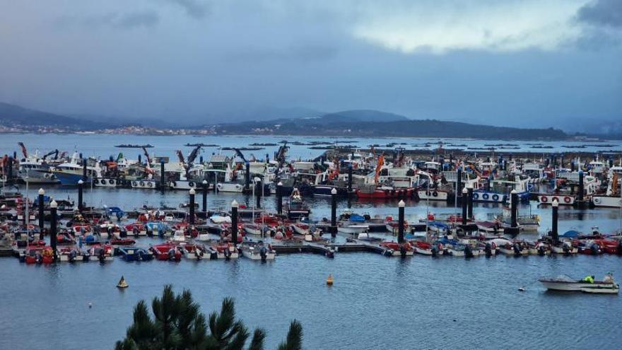
<path fill-rule="evenodd" d="M 139 27 L 153 27 L 160 22 L 160 16 L 155 11 L 136 11 L 129 13 L 108 12 L 92 16 L 62 16 L 56 21 L 57 27 L 66 28 L 81 25 L 86 28 L 111 27 L 132 29 Z"/>

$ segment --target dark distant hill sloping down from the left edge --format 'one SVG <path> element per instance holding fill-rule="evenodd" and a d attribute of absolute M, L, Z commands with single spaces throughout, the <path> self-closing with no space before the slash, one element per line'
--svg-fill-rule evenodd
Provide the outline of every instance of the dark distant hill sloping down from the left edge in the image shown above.
<path fill-rule="evenodd" d="M 30 110 L 9 103 L 0 103 L 0 123 L 8 126 L 69 127 L 75 129 L 96 129 L 110 126 L 107 123 Z"/>

